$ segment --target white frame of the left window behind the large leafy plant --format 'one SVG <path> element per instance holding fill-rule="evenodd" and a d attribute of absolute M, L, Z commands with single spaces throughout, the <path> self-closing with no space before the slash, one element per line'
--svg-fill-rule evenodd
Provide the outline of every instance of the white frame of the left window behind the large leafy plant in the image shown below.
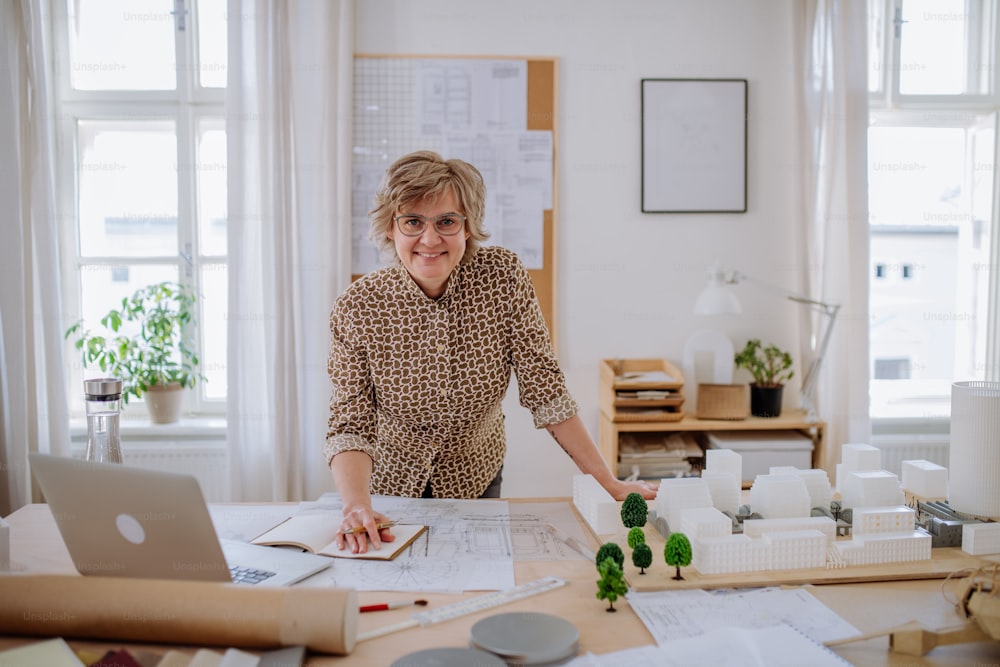
<path fill-rule="evenodd" d="M 175 56 L 177 63 L 197 63 L 198 21 L 195 11 L 198 0 L 174 1 L 174 36 Z M 202 88 L 199 85 L 197 71 L 193 67 L 177 67 L 176 90 L 158 91 L 94 91 L 78 90 L 71 86 L 71 64 L 69 49 L 69 14 L 67 0 L 53 0 L 52 49 L 55 63 L 54 92 L 56 118 L 56 206 L 59 216 L 61 257 L 61 293 L 65 322 L 69 324 L 79 321 L 82 317 L 81 285 L 79 281 L 81 268 L 89 264 L 106 264 L 121 262 L 120 257 L 101 258 L 79 256 L 79 225 L 77 221 L 77 201 L 79 179 L 77 173 L 77 122 L 80 120 L 169 120 L 175 123 L 177 132 L 177 164 L 195 164 L 197 155 L 197 129 L 202 120 L 221 121 L 225 124 L 225 89 Z M 178 29 L 178 16 L 183 13 L 184 29 Z M 200 252 L 192 255 L 197 247 L 197 200 L 196 179 L 197 170 L 178 170 L 178 249 L 176 258 L 177 275 L 182 283 L 189 284 L 196 291 L 200 288 L 199 268 L 204 264 L 227 262 L 225 256 L 204 255 Z M 173 262 L 165 262 L 163 258 L 135 257 L 127 260 L 135 265 L 166 266 Z M 200 326 L 196 325 L 192 335 L 202 335 Z M 82 387 L 83 369 L 79 353 L 72 343 L 66 343 L 68 360 L 68 398 L 72 416 L 82 416 L 82 395 L 73 391 L 74 387 Z M 204 362 L 204 359 L 202 359 Z M 218 420 L 225 416 L 226 400 L 206 399 L 202 397 L 199 388 L 191 392 L 187 404 L 192 417 L 208 417 L 213 428 L 218 427 Z M 126 407 L 126 411 L 144 410 Z M 133 422 L 134 423 L 134 422 Z M 158 430 L 151 427 L 151 431 Z M 162 429 L 159 429 L 162 430 Z"/>

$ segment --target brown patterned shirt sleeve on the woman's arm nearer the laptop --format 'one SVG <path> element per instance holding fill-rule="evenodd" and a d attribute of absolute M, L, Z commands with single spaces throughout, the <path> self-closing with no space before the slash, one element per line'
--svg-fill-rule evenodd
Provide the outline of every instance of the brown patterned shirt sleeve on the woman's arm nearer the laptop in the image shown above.
<path fill-rule="evenodd" d="M 333 385 L 324 454 L 327 465 L 345 451 L 362 451 L 376 458 L 375 391 L 360 332 L 351 309 L 338 301 L 330 314 L 330 358 L 327 372 Z"/>

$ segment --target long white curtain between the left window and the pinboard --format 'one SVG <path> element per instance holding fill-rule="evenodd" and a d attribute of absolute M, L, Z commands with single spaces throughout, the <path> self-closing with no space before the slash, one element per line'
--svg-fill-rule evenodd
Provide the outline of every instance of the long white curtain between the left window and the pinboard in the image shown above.
<path fill-rule="evenodd" d="M 228 9 L 230 494 L 311 499 L 333 488 L 322 451 L 328 319 L 350 279 L 353 0 Z"/>

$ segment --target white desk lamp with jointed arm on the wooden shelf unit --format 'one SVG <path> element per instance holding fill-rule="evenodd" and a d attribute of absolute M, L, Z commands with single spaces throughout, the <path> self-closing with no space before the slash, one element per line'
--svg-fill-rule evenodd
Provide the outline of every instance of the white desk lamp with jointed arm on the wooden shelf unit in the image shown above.
<path fill-rule="evenodd" d="M 809 297 L 775 287 L 756 278 L 751 278 L 739 271 L 733 270 L 727 272 L 718 264 L 714 264 L 708 270 L 708 285 L 705 286 L 705 289 L 701 291 L 701 294 L 698 295 L 698 299 L 695 301 L 694 312 L 698 315 L 723 315 L 743 312 L 739 298 L 729 287 L 730 285 L 738 285 L 742 282 L 751 283 L 789 301 L 809 306 L 825 318 L 819 347 L 802 380 L 801 407 L 806 411 L 809 421 L 816 421 L 816 399 L 813 394 L 816 391 L 816 380 L 819 377 L 823 357 L 826 356 L 826 349 L 830 344 L 830 332 L 833 331 L 833 324 L 837 319 L 840 304 L 816 301 Z"/>

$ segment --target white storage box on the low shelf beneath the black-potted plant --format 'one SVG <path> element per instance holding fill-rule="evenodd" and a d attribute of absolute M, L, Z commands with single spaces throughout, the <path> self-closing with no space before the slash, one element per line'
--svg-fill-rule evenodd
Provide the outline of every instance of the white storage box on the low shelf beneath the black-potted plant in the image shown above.
<path fill-rule="evenodd" d="M 743 459 L 743 483 L 766 475 L 773 466 L 812 469 L 813 441 L 798 431 L 709 431 L 712 449 L 731 449 Z"/>

